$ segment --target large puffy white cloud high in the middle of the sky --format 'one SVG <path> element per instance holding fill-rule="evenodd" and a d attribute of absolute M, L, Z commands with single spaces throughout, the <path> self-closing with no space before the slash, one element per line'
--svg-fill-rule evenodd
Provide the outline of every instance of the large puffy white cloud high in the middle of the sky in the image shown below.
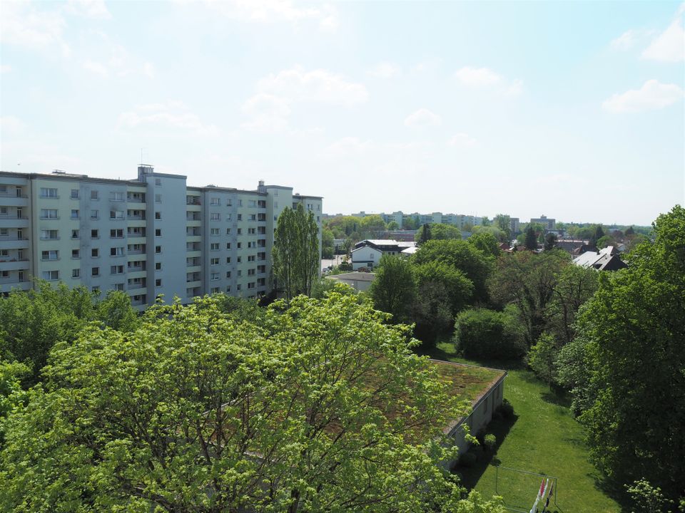
<path fill-rule="evenodd" d="M 356 105 L 368 98 L 365 86 L 348 81 L 342 75 L 324 69 L 304 71 L 300 66 L 262 78 L 257 89 L 260 93 L 278 95 L 288 101 Z"/>

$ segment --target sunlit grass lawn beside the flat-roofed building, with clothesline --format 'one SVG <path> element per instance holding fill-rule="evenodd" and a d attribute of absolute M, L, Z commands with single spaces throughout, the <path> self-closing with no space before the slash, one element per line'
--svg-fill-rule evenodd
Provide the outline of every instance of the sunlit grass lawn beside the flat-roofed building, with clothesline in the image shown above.
<path fill-rule="evenodd" d="M 442 360 L 472 363 L 508 371 L 504 398 L 514 406 L 514 419 L 493 420 L 488 432 L 497 436 L 494 455 L 480 449 L 477 464 L 459 469 L 462 482 L 483 494 L 495 494 L 495 465 L 557 477 L 559 513 L 620 512 L 621 507 L 602 491 L 600 475 L 588 461 L 583 428 L 571 415 L 567 401 L 549 390 L 522 366 L 496 361 L 469 361 L 458 358 L 451 343 L 440 343 L 429 356 Z M 501 468 L 497 472 L 497 493 L 509 507 L 528 512 L 535 499 L 540 478 L 520 475 Z M 541 508 L 542 509 L 542 508 Z"/>

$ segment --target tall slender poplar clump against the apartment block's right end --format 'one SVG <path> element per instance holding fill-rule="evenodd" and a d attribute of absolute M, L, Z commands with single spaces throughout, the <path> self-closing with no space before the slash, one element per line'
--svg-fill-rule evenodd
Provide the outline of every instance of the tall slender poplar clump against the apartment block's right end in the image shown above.
<path fill-rule="evenodd" d="M 283 209 L 273 236 L 273 274 L 288 301 L 312 293 L 321 257 L 318 237 L 313 212 L 305 212 L 301 203 Z"/>

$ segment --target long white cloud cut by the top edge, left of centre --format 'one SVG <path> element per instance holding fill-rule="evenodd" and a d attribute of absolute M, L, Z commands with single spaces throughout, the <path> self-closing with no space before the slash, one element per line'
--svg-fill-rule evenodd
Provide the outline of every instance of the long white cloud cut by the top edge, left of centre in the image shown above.
<path fill-rule="evenodd" d="M 189 4 L 195 6 L 197 2 Z M 204 0 L 212 11 L 230 19 L 254 23 L 315 21 L 320 28 L 338 27 L 338 10 L 332 4 L 297 5 L 290 0 Z"/>

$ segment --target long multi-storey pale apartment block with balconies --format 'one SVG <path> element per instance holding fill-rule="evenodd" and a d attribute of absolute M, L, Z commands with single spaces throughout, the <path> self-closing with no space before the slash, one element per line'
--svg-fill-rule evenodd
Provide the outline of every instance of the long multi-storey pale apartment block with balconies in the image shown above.
<path fill-rule="evenodd" d="M 322 198 L 292 187 L 191 187 L 148 165 L 136 180 L 0 172 L 0 294 L 30 289 L 34 276 L 123 290 L 138 309 L 160 294 L 268 294 L 276 221 L 298 203 L 320 242 Z"/>

